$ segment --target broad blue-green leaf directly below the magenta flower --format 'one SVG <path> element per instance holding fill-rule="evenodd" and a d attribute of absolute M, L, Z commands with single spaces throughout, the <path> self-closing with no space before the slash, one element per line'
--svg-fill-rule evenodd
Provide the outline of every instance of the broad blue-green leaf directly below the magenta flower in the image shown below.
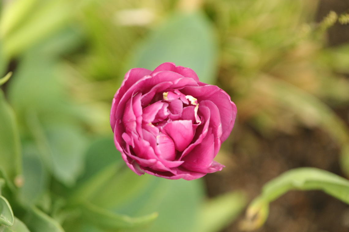
<path fill-rule="evenodd" d="M 140 232 L 192 232 L 204 200 L 203 183 L 198 180 L 168 180 L 148 175 L 151 180 L 141 195 L 114 209 L 122 214 L 139 216 L 158 212 L 149 228 Z"/>

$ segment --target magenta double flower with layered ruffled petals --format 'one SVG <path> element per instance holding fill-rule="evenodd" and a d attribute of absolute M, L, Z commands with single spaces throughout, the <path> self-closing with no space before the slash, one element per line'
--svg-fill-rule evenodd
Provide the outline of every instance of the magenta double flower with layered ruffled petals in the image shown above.
<path fill-rule="evenodd" d="M 213 158 L 236 117 L 230 96 L 190 68 L 163 63 L 129 70 L 114 95 L 110 125 L 127 166 L 167 179 L 222 170 Z"/>

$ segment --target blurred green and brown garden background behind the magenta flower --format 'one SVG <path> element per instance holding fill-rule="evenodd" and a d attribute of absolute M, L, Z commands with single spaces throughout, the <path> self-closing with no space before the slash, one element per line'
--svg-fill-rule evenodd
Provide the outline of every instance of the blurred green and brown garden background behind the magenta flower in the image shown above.
<path fill-rule="evenodd" d="M 0 168 L 22 186 L 15 216 L 32 232 L 33 207 L 67 232 L 235 232 L 247 202 L 286 170 L 349 177 L 348 13 L 347 0 L 2 1 L 0 72 L 13 76 L 1 89 L 21 150 Z M 128 69 L 164 62 L 236 103 L 221 172 L 171 181 L 124 168 L 113 95 Z M 309 191 L 273 202 L 258 231 L 348 230 L 349 207 Z"/>

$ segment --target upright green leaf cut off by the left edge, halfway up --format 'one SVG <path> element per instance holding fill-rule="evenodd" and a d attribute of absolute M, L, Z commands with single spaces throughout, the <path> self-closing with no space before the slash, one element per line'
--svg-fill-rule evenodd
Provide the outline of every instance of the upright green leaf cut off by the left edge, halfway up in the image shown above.
<path fill-rule="evenodd" d="M 20 138 L 15 114 L 0 90 L 0 170 L 12 183 L 22 173 Z M 18 184 L 18 183 L 17 183 Z"/>

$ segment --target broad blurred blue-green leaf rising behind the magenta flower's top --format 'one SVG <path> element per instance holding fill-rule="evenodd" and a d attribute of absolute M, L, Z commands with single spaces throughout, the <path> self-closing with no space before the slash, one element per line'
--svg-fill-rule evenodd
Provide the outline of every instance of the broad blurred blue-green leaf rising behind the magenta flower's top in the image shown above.
<path fill-rule="evenodd" d="M 134 53 L 130 68 L 154 70 L 164 62 L 193 69 L 201 82 L 216 82 L 215 31 L 202 13 L 175 14 Z"/>

